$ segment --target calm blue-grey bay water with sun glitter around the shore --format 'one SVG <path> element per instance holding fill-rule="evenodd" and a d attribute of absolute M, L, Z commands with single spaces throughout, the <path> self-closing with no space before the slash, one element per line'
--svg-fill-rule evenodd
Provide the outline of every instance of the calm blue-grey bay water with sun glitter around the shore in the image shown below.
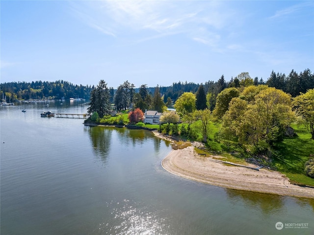
<path fill-rule="evenodd" d="M 314 234 L 314 200 L 173 176 L 161 167 L 169 143 L 150 131 L 41 118 L 46 104 L 0 107 L 1 235 Z M 277 230 L 277 222 L 308 228 Z"/>

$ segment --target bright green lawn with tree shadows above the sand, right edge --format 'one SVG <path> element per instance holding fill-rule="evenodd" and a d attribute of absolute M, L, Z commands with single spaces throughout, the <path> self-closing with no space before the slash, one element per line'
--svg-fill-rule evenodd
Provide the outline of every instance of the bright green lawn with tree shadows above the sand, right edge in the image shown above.
<path fill-rule="evenodd" d="M 286 174 L 291 182 L 314 186 L 314 179 L 306 176 L 304 163 L 314 154 L 314 140 L 304 126 L 292 126 L 296 136 L 285 138 L 273 151 L 273 166 Z"/>

